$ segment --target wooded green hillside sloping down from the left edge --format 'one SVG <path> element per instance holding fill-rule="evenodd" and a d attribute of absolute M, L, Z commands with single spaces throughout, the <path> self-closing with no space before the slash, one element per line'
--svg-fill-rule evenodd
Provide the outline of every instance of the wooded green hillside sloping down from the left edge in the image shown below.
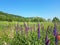
<path fill-rule="evenodd" d="M 0 21 L 21 21 L 24 17 L 0 11 Z"/>

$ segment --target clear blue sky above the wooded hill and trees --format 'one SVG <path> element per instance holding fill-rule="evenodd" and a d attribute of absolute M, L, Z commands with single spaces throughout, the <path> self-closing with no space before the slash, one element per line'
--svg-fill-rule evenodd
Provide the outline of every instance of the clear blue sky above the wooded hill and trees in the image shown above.
<path fill-rule="evenodd" d="M 0 11 L 23 17 L 60 18 L 60 0 L 0 0 Z"/>

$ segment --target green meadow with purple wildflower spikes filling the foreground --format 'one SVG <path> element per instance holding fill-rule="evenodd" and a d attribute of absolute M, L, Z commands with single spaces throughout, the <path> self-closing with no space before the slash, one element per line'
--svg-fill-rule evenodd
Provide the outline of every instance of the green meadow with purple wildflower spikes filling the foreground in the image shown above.
<path fill-rule="evenodd" d="M 0 45 L 60 45 L 60 23 L 0 22 Z"/>

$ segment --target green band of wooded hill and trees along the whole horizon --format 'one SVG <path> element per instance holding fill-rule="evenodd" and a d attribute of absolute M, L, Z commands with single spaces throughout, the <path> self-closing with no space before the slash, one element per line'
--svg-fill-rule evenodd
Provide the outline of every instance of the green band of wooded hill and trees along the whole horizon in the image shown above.
<path fill-rule="evenodd" d="M 44 19 L 42 17 L 22 17 L 22 16 L 17 16 L 14 14 L 8 14 L 0 11 L 0 21 L 19 21 L 19 22 L 46 22 L 46 21 L 52 21 L 52 22 L 60 22 L 60 19 L 57 17 L 54 17 L 52 20 Z"/>

